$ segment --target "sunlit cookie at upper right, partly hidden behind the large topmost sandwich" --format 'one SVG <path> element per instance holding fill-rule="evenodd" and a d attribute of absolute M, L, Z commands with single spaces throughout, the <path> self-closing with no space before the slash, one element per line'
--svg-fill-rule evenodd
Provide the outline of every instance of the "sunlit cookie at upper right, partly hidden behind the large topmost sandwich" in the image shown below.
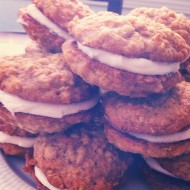
<path fill-rule="evenodd" d="M 188 45 L 190 45 L 190 20 L 183 14 L 176 13 L 167 7 L 148 8 L 140 7 L 132 10 L 129 15 L 145 17 L 162 23 L 171 30 L 180 34 Z"/>

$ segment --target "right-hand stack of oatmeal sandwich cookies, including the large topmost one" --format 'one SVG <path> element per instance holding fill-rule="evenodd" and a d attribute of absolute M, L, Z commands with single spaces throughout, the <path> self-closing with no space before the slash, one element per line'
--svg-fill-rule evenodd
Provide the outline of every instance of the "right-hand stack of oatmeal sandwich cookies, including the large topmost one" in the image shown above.
<path fill-rule="evenodd" d="M 189 58 L 190 21 L 167 8 L 140 10 L 75 17 L 63 54 L 100 87 L 108 141 L 145 159 L 153 189 L 189 189 L 190 83 L 179 68 Z"/>

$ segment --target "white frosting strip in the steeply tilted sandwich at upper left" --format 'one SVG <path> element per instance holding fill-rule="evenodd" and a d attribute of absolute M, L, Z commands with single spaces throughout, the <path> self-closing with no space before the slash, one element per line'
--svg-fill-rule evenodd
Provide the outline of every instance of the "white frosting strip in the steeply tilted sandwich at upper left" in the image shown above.
<path fill-rule="evenodd" d="M 46 26 L 50 31 L 56 33 L 58 36 L 66 40 L 73 39 L 73 37 L 69 35 L 68 32 L 64 31 L 51 20 L 49 20 L 34 4 L 28 5 L 27 13 L 41 25 Z M 22 22 L 21 19 L 18 19 L 18 22 L 19 21 Z M 23 24 L 25 24 L 25 22 Z"/>

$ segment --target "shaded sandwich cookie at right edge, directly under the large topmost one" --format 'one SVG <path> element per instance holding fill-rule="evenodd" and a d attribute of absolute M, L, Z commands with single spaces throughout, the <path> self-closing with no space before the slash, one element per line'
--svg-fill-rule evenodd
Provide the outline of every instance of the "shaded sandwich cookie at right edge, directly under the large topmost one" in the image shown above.
<path fill-rule="evenodd" d="M 173 158 L 190 152 L 190 85 L 167 94 L 129 98 L 104 96 L 105 134 L 119 149 L 144 157 Z"/>

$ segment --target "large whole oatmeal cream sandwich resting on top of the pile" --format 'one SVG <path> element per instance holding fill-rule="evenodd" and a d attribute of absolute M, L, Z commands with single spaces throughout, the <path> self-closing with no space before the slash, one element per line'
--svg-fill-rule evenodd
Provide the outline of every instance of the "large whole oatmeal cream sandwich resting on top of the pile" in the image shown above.
<path fill-rule="evenodd" d="M 100 12 L 68 25 L 75 41 L 63 44 L 71 70 L 104 91 L 145 97 L 166 93 L 181 81 L 185 40 L 163 24 Z"/>

